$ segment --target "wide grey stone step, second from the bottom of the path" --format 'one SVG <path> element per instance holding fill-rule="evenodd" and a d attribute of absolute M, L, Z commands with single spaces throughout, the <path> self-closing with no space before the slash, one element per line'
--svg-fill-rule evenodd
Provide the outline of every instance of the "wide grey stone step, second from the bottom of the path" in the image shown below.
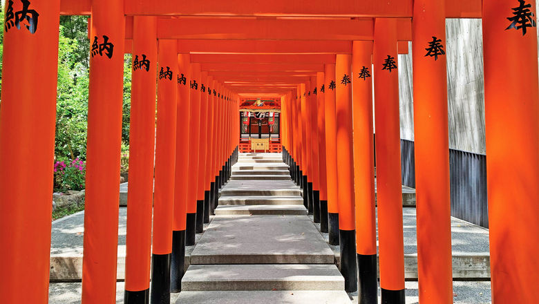
<path fill-rule="evenodd" d="M 335 265 L 192 265 L 182 278 L 182 292 L 200 291 L 344 291 Z M 191 303 L 191 302 L 187 302 Z M 220 302 L 221 303 L 221 302 Z M 251 301 L 250 303 L 256 303 Z M 282 302 L 281 302 L 282 303 Z"/>

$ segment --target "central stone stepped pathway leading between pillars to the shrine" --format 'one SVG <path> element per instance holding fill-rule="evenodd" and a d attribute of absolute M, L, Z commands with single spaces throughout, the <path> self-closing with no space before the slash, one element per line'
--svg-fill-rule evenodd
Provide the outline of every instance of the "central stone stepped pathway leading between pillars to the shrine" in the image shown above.
<path fill-rule="evenodd" d="M 281 154 L 240 155 L 191 253 L 183 303 L 350 303 Z"/>

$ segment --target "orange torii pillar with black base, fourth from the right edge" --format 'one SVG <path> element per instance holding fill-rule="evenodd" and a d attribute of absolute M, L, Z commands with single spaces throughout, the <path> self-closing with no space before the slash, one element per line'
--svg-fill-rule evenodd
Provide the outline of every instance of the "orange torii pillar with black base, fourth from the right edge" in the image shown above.
<path fill-rule="evenodd" d="M 353 42 L 354 190 L 361 304 L 378 303 L 371 55 L 372 41 Z"/>

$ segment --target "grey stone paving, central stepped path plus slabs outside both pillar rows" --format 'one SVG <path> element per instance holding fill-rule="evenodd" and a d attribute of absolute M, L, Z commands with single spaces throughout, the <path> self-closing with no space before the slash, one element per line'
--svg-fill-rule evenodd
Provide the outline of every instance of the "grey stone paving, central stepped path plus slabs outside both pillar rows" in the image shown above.
<path fill-rule="evenodd" d="M 306 215 L 301 191 L 290 180 L 281 154 L 240 155 L 221 194 L 205 234 L 197 235 L 196 246 L 187 247 L 191 265 L 183 292 L 174 294 L 171 303 L 243 303 L 240 298 L 248 298 L 245 303 L 350 303 L 335 266 L 338 247 L 328 246 L 328 235 Z M 413 189 L 403 188 L 405 195 L 415 201 Z M 125 220 L 126 208 L 120 208 L 119 279 L 124 278 Z M 489 278 L 488 230 L 455 218 L 451 222 L 454 277 Z M 84 211 L 53 222 L 51 281 L 80 279 L 83 223 Z M 406 207 L 407 278 L 417 278 L 415 231 L 415 208 Z M 454 286 L 455 303 L 490 302 L 488 282 Z M 406 303 L 417 303 L 417 285 L 407 282 L 406 287 Z M 122 283 L 118 288 L 121 302 Z M 79 293 L 80 283 L 51 283 L 50 303 L 79 303 Z"/>

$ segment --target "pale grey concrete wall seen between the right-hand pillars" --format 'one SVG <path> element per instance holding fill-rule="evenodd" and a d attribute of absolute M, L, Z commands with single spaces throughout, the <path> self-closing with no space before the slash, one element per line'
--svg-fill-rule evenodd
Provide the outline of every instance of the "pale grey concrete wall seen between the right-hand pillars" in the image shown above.
<path fill-rule="evenodd" d="M 446 20 L 449 147 L 485 153 L 480 19 Z M 412 46 L 399 55 L 401 138 L 413 140 Z"/>

